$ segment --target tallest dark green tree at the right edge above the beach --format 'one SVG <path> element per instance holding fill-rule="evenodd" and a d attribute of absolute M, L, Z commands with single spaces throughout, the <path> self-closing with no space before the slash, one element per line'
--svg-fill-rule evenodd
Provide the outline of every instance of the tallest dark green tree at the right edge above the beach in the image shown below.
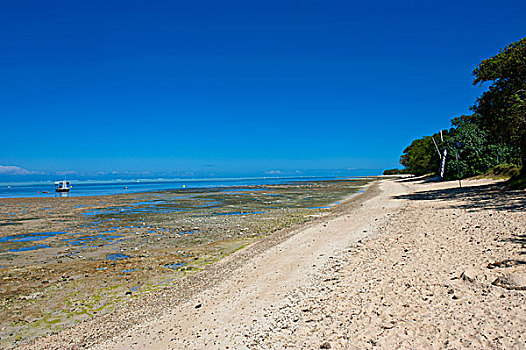
<path fill-rule="evenodd" d="M 473 71 L 473 85 L 491 82 L 472 109 L 474 122 L 496 143 L 520 150 L 526 175 L 526 38 L 483 60 Z"/>

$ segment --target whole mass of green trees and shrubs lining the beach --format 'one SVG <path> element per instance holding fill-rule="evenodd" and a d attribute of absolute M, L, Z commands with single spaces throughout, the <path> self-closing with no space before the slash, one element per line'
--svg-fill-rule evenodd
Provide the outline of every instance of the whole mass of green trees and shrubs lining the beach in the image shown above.
<path fill-rule="evenodd" d="M 448 151 L 447 179 L 481 175 L 499 164 L 522 165 L 526 175 L 526 38 L 482 61 L 473 75 L 473 84 L 491 82 L 472 107 L 474 113 L 454 118 L 442 135 L 411 142 L 400 157 L 404 171 L 437 173 L 438 147 Z"/>

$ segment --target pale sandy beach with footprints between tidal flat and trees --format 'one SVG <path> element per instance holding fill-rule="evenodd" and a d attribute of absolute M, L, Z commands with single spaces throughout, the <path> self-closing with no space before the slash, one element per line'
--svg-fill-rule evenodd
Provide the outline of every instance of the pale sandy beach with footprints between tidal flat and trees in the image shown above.
<path fill-rule="evenodd" d="M 526 193 L 385 179 L 22 349 L 523 349 Z"/>

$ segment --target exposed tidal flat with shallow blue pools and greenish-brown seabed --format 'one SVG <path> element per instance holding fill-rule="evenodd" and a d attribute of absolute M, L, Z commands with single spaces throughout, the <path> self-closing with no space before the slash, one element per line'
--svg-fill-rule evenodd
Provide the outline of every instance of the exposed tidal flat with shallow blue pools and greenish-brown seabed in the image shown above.
<path fill-rule="evenodd" d="M 370 180 L 0 199 L 0 346 L 111 312 Z"/>

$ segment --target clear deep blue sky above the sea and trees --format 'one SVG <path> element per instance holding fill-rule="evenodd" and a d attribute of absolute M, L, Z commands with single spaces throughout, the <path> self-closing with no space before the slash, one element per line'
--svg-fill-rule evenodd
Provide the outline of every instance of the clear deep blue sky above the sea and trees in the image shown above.
<path fill-rule="evenodd" d="M 469 113 L 471 71 L 525 35 L 525 13 L 525 1 L 5 1 L 0 166 L 395 167 L 412 139 Z"/>

